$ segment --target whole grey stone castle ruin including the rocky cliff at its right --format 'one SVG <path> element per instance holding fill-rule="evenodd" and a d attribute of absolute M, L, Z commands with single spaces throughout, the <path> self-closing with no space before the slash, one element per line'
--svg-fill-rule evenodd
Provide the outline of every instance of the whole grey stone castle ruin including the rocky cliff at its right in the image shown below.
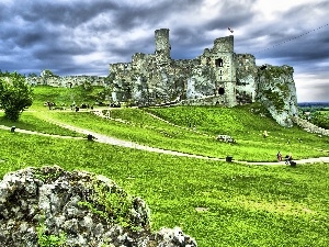
<path fill-rule="evenodd" d="M 234 36 L 219 37 L 194 59 L 170 56 L 169 30 L 155 31 L 154 54 L 136 53 L 131 63 L 110 65 L 112 98 L 135 105 L 226 105 L 263 103 L 285 126 L 297 114 L 290 66 L 257 66 L 251 54 L 234 52 Z"/>

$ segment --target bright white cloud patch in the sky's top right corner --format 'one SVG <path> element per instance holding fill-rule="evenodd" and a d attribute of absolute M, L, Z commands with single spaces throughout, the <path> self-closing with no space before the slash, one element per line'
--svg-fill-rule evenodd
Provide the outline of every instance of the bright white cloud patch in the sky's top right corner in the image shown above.
<path fill-rule="evenodd" d="M 328 35 L 317 35 L 316 29 L 329 23 L 328 1 L 309 1 L 292 9 L 284 9 L 276 12 L 276 18 L 271 21 L 259 21 L 257 24 L 249 26 L 246 33 L 246 41 L 253 41 L 263 37 L 261 43 L 257 44 L 257 49 L 262 50 L 276 47 L 279 44 L 283 47 L 285 43 L 296 42 L 309 43 L 313 36 L 326 38 Z M 324 27 L 328 32 L 328 26 Z M 322 30 L 319 30 L 321 32 Z M 295 46 L 295 48 L 298 48 Z"/>

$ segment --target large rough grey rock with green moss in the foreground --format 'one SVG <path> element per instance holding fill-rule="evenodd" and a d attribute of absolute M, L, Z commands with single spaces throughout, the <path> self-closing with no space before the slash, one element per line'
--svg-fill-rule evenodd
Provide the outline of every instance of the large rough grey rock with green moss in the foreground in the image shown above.
<path fill-rule="evenodd" d="M 197 246 L 177 227 L 150 232 L 149 209 L 112 180 L 58 166 L 0 182 L 0 246 Z"/>

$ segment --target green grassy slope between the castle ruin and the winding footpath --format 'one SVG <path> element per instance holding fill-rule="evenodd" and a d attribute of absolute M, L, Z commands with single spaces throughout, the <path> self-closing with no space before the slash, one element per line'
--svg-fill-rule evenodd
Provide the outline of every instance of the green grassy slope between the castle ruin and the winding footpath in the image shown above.
<path fill-rule="evenodd" d="M 261 111 L 259 105 L 112 109 L 111 117 L 120 121 L 100 119 L 88 112 L 63 114 L 49 111 L 47 114 L 57 121 L 138 144 L 209 157 L 275 161 L 279 150 L 283 155 L 292 153 L 295 159 L 328 156 L 321 150 L 328 150 L 329 137 L 306 133 L 297 126 L 282 127 Z M 148 112 L 175 126 L 150 116 Z M 193 131 L 194 125 L 197 132 Z M 263 131 L 269 133 L 266 138 Z M 237 144 L 218 142 L 218 134 L 232 136 Z"/>

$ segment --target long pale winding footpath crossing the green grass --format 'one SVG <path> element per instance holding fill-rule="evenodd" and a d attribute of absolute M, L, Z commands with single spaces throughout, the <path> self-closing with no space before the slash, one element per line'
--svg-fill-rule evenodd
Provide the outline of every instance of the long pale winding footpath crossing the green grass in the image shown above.
<path fill-rule="evenodd" d="M 94 114 L 98 115 L 98 113 L 94 112 Z M 104 117 L 103 115 L 100 115 Z M 226 161 L 225 158 L 214 158 L 214 157 L 206 157 L 202 155 L 192 155 L 192 154 L 186 154 L 186 153 L 181 153 L 181 151 L 175 151 L 175 150 L 168 150 L 168 149 L 162 149 L 162 148 L 157 148 L 157 147 L 150 147 L 150 146 L 145 146 L 140 145 L 137 143 L 133 143 L 129 141 L 124 141 L 124 139 L 118 139 L 115 137 L 106 136 L 103 134 L 99 134 L 95 132 L 91 132 L 86 128 L 72 126 L 66 123 L 61 123 L 58 121 L 55 121 L 53 119 L 45 119 L 47 122 L 56 124 L 58 126 L 65 127 L 70 131 L 75 131 L 80 134 L 87 135 L 92 135 L 94 137 L 94 142 L 103 143 L 103 144 L 109 144 L 109 145 L 115 145 L 120 147 L 126 147 L 126 148 L 134 148 L 134 149 L 139 149 L 139 150 L 146 150 L 146 151 L 151 151 L 151 153 L 158 153 L 158 154 L 166 154 L 166 155 L 173 155 L 173 156 L 181 156 L 181 157 L 189 157 L 189 158 L 197 158 L 197 159 L 207 159 L 207 160 L 215 160 L 215 161 Z M 8 130 L 10 131 L 11 127 L 0 125 L 0 128 L 2 130 Z M 24 133 L 24 134 L 32 134 L 32 135 L 42 135 L 42 136 L 50 136 L 50 137 L 56 137 L 56 138 L 73 138 L 73 139 L 86 139 L 83 137 L 72 137 L 72 136 L 61 136 L 61 135 L 50 135 L 50 134 L 45 134 L 45 133 L 39 133 L 39 132 L 33 132 L 33 131 L 26 131 L 26 130 L 20 130 L 15 128 L 15 132 L 18 133 Z M 242 161 L 242 160 L 232 160 L 232 162 L 237 164 L 243 164 L 243 165 L 272 165 L 272 166 L 286 166 L 284 161 L 281 162 L 258 162 L 258 161 Z M 300 159 L 296 160 L 296 162 L 299 164 L 314 164 L 314 162 L 326 162 L 329 164 L 329 157 L 319 157 L 319 158 L 309 158 L 309 159 Z"/>

